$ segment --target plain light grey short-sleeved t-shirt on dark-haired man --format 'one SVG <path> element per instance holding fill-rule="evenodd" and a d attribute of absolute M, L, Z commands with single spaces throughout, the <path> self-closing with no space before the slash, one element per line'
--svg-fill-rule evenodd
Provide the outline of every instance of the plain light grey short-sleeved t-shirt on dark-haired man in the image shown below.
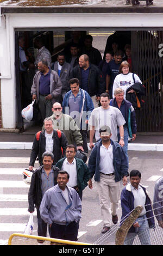
<path fill-rule="evenodd" d="M 111 128 L 112 141 L 118 141 L 117 126 L 122 126 L 126 123 L 120 109 L 109 106 L 108 109 L 102 107 L 94 108 L 89 119 L 89 125 L 95 126 L 96 141 L 100 139 L 99 129 L 106 125 Z"/>

